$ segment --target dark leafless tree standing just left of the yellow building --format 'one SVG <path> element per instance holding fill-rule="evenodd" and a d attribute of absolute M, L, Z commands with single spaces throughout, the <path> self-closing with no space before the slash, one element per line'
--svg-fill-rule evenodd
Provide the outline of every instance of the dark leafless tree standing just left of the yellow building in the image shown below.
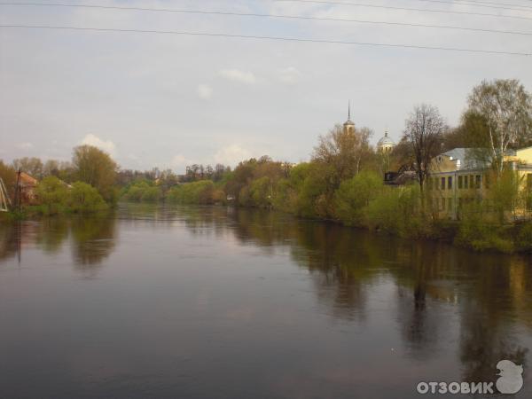
<path fill-rule="evenodd" d="M 431 160 L 441 151 L 445 129 L 446 124 L 438 108 L 426 104 L 414 107 L 405 121 L 403 139 L 410 145 L 413 168 L 418 175 L 421 191 L 430 171 Z"/>

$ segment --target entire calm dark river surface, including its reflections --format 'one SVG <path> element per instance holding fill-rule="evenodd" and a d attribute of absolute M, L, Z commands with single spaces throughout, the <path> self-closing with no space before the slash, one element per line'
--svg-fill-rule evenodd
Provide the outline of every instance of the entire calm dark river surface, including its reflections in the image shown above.
<path fill-rule="evenodd" d="M 0 226 L 1 398 L 407 398 L 501 359 L 530 398 L 529 348 L 527 257 L 225 207 Z"/>

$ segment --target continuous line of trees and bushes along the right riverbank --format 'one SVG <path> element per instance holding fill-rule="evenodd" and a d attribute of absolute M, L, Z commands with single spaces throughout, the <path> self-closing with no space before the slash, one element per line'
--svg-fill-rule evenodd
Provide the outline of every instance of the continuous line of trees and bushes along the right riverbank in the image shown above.
<path fill-rule="evenodd" d="M 268 207 L 408 238 L 452 239 L 476 249 L 532 249 L 532 223 L 508 224 L 505 218 L 518 207 L 530 207 L 532 192 L 520 190 L 519 176 L 503 161 L 509 150 L 532 145 L 531 98 L 514 80 L 481 82 L 456 127 L 436 106 L 415 106 L 389 153 L 370 145 L 371 129 L 336 125 L 318 137 L 308 162 L 243 160 L 217 182 L 174 187 L 168 200 Z M 471 149 L 492 184 L 488 198 L 466 203 L 460 221 L 450 223 L 434 211 L 426 181 L 434 157 L 457 147 Z M 383 173 L 399 169 L 411 171 L 411 184 L 385 185 Z"/>

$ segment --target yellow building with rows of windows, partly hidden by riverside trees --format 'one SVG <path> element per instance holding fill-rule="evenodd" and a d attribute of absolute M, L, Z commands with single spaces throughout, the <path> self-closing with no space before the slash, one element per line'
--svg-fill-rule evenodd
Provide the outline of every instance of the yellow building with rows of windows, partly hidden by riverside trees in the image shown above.
<path fill-rule="evenodd" d="M 489 164 L 475 153 L 473 148 L 455 148 L 432 160 L 426 187 L 437 215 L 457 219 L 465 203 L 486 198 Z M 532 147 L 508 152 L 504 162 L 522 178 L 520 189 L 532 191 Z"/>

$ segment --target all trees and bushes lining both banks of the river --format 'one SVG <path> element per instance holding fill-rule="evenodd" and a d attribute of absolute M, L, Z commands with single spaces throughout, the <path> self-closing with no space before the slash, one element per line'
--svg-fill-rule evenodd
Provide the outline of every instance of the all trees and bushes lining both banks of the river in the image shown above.
<path fill-rule="evenodd" d="M 494 106 L 479 106 L 485 103 Z M 508 121 L 497 120 L 497 113 L 507 115 Z M 294 165 L 262 156 L 242 160 L 234 169 L 192 165 L 184 176 L 170 170 L 121 170 L 106 153 L 76 147 L 71 164 L 41 163 L 39 169 L 34 160 L 36 176 L 39 170 L 41 176 L 55 176 L 43 178 L 37 188 L 39 209 L 47 215 L 87 212 L 112 206 L 117 198 L 231 204 L 277 209 L 408 239 L 444 239 L 475 250 L 532 251 L 531 213 L 516 217 L 517 209 L 530 209 L 532 193 L 520 190 L 522 182 L 502 161 L 507 149 L 532 145 L 531 96 L 519 82 L 482 82 L 473 89 L 455 128 L 447 126 L 434 106 L 416 106 L 406 120 L 402 140 L 390 153 L 376 151 L 370 145 L 371 136 L 368 128 L 336 125 L 319 137 L 307 162 Z M 425 184 L 430 161 L 455 147 L 488 149 L 489 143 L 503 151 L 479 154 L 493 176 L 487 196 L 465 204 L 458 221 L 443 218 L 434 211 Z M 101 161 L 91 161 L 95 158 Z M 18 162 L 32 167 L 29 160 Z M 6 168 L 0 164 L 3 176 Z M 384 173 L 399 168 L 411 170 L 415 176 L 411 183 L 384 184 Z M 79 183 L 72 188 L 61 184 L 75 180 Z"/>

